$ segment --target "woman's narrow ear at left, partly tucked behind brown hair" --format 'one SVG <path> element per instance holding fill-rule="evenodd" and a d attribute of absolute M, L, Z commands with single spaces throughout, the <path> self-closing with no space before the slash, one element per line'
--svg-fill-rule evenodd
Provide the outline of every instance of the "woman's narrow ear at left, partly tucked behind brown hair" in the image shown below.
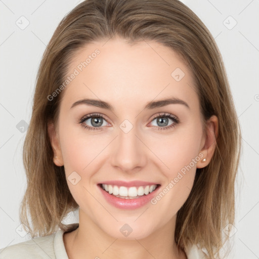
<path fill-rule="evenodd" d="M 55 125 L 52 121 L 48 122 L 48 134 L 49 134 L 52 150 L 54 153 L 53 162 L 57 166 L 62 166 L 64 165 L 64 162 L 63 162 L 62 152 L 60 148 L 59 137 L 58 137 L 58 133 L 56 131 Z"/>

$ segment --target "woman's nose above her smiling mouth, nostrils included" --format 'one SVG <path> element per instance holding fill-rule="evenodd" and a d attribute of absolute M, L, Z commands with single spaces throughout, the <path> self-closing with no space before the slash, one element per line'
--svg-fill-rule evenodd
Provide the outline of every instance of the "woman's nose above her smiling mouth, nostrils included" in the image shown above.
<path fill-rule="evenodd" d="M 141 170 L 146 165 L 148 150 L 143 142 L 135 127 L 127 133 L 119 128 L 112 145 L 112 166 L 127 173 Z"/>

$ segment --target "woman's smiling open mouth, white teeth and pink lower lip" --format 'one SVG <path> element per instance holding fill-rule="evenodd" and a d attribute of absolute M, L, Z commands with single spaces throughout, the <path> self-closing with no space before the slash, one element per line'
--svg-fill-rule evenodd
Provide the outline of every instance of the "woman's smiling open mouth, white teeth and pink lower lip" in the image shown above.
<path fill-rule="evenodd" d="M 127 185 L 127 186 L 125 186 Z M 105 200 L 120 209 L 136 209 L 147 204 L 160 189 L 160 184 L 138 182 L 132 184 L 114 185 L 106 183 L 98 184 L 99 190 Z"/>

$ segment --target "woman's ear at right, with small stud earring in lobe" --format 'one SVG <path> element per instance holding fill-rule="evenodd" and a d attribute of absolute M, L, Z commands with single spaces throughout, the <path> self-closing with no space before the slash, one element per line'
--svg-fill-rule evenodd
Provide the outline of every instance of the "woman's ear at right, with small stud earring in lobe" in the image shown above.
<path fill-rule="evenodd" d="M 197 168 L 203 168 L 209 164 L 217 145 L 217 137 L 219 132 L 219 120 L 218 117 L 212 115 L 206 121 L 206 134 L 201 141 L 201 149 L 199 153 L 203 154 L 203 157 L 197 162 Z M 206 158 L 206 161 L 202 161 Z"/>

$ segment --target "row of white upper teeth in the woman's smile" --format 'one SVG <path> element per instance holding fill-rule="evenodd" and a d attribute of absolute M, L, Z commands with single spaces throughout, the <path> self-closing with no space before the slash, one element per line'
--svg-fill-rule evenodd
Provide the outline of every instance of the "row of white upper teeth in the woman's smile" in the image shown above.
<path fill-rule="evenodd" d="M 148 195 L 156 189 L 157 185 L 147 185 L 147 186 L 139 186 L 139 187 L 124 187 L 124 186 L 112 186 L 107 184 L 102 184 L 102 188 L 108 192 L 109 194 L 113 194 L 114 196 L 122 196 L 122 197 L 137 197 Z"/>

